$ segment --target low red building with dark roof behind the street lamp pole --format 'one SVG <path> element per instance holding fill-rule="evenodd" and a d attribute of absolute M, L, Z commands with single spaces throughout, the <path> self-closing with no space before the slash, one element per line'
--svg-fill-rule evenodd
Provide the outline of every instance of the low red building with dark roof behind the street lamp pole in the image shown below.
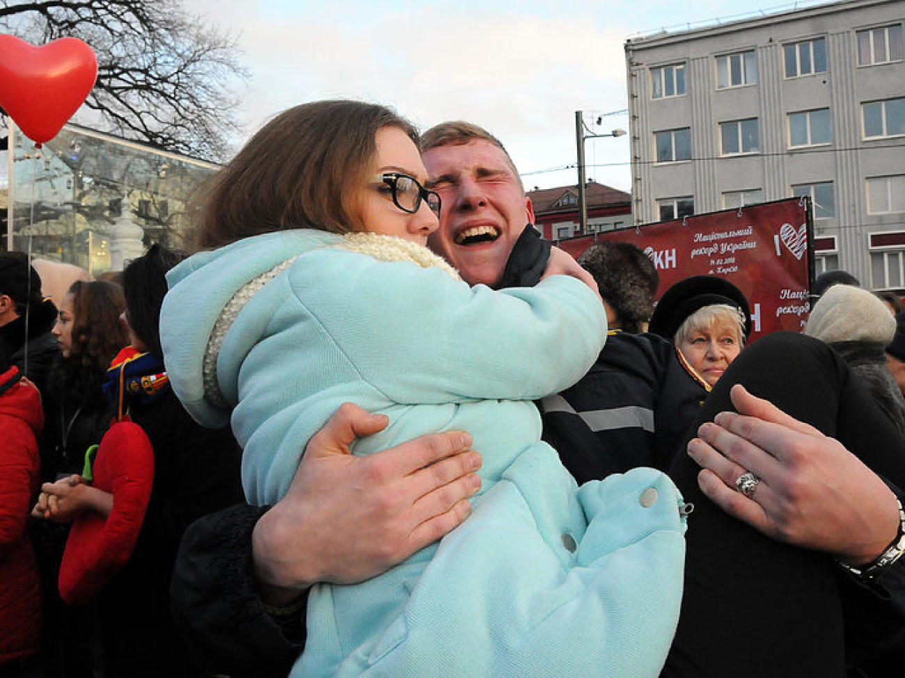
<path fill-rule="evenodd" d="M 547 240 L 578 234 L 578 186 L 536 188 L 528 192 L 534 206 L 534 225 Z M 587 232 L 613 231 L 632 224 L 632 196 L 604 184 L 585 184 Z"/>

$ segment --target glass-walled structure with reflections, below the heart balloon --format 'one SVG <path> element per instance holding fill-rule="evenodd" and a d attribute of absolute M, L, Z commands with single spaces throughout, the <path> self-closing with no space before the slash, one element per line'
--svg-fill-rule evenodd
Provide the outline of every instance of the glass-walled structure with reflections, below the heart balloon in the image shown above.
<path fill-rule="evenodd" d="M 189 199 L 218 165 L 66 125 L 41 148 L 10 125 L 6 250 L 121 270 L 159 242 L 184 249 Z M 10 228 L 11 225 L 11 228 Z"/>

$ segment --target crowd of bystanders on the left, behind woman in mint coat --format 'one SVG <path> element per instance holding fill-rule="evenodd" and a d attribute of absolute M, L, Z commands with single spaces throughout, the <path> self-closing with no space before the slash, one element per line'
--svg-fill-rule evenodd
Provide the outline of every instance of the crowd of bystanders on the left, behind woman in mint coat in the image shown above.
<path fill-rule="evenodd" d="M 0 325 L 0 675 L 203 674 L 176 635 L 170 573 L 187 525 L 242 498 L 240 450 L 228 429 L 196 424 L 168 387 L 157 316 L 176 260 L 154 246 L 129 264 L 121 286 L 76 280 L 57 308 L 24 255 L 0 254 L 0 303 L 15 309 Z M 55 322 L 44 320 L 49 307 Z M 35 315 L 30 332 L 16 327 Z M 112 485 L 124 489 L 117 506 L 91 469 L 122 452 L 98 446 L 111 422 L 129 419 L 147 434 L 153 472 L 124 468 Z M 148 499 L 124 513 L 126 485 L 140 483 Z M 106 525 L 100 546 L 69 538 L 72 523 L 91 515 Z M 122 546 L 117 532 L 129 529 Z M 98 593 L 72 591 L 79 604 L 71 605 L 58 582 L 63 562 L 79 558 L 97 561 L 83 587 Z"/>

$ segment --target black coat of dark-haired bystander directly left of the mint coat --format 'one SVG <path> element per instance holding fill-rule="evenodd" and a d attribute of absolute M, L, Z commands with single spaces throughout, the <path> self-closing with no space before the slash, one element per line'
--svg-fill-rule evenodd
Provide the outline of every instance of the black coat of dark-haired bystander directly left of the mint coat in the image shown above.
<path fill-rule="evenodd" d="M 170 579 L 189 523 L 243 501 L 241 450 L 229 428 L 195 423 L 169 389 L 129 414 L 154 449 L 154 484 L 135 551 L 100 598 L 108 674 L 202 675 L 176 636 Z"/>

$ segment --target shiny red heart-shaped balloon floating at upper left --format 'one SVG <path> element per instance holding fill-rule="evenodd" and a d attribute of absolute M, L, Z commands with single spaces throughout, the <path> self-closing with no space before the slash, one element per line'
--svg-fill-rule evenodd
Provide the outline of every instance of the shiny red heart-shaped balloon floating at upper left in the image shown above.
<path fill-rule="evenodd" d="M 97 75 L 97 57 L 78 38 L 34 47 L 14 35 L 0 35 L 0 106 L 38 144 L 56 137 Z"/>

